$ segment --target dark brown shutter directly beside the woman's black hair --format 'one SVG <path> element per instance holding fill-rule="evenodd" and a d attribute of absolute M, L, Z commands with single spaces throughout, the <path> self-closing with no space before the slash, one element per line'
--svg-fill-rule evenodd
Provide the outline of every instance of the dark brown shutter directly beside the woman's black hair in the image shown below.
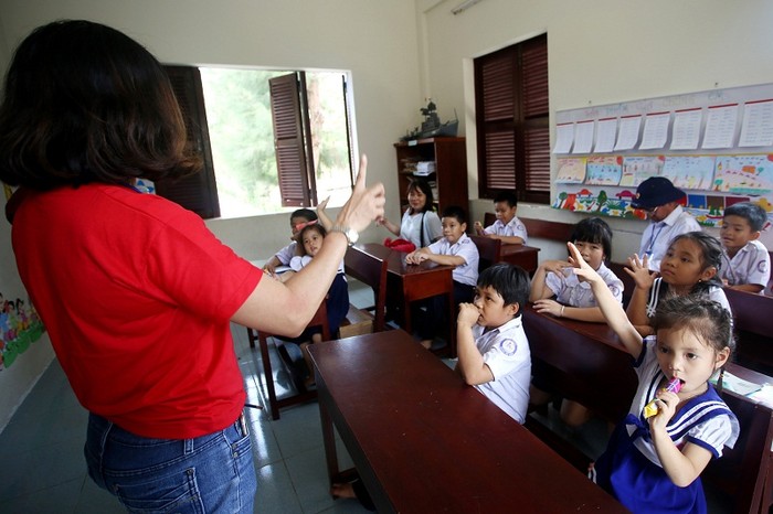
<path fill-rule="evenodd" d="M 218 202 L 218 185 L 212 164 L 212 148 L 207 126 L 201 74 L 198 68 L 191 66 L 163 67 L 169 75 L 174 96 L 180 105 L 188 129 L 188 139 L 192 148 L 201 153 L 204 168 L 200 173 L 182 179 L 157 181 L 156 193 L 193 211 L 202 218 L 219 217 L 220 203 Z"/>

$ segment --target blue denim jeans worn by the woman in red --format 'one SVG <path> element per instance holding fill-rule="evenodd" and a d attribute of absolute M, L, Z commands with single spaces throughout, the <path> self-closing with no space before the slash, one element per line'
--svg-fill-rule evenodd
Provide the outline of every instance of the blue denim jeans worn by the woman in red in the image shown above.
<path fill-rule="evenodd" d="M 257 480 L 243 417 L 194 439 L 151 439 L 91 414 L 84 452 L 92 480 L 129 512 L 253 512 Z"/>

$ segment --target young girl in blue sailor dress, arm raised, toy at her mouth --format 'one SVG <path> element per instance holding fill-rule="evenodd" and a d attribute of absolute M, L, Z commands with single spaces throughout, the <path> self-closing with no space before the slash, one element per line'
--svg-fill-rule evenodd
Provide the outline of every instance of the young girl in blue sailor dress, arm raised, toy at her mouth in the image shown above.
<path fill-rule="evenodd" d="M 658 304 L 656 335 L 643 339 L 599 274 L 569 248 L 639 381 L 628 416 L 590 476 L 634 513 L 706 513 L 700 473 L 739 435 L 738 419 L 709 383 L 734 345 L 730 313 L 705 296 L 674 296 Z M 673 378 L 681 382 L 678 393 L 665 388 Z M 653 399 L 659 410 L 645 419 Z"/>

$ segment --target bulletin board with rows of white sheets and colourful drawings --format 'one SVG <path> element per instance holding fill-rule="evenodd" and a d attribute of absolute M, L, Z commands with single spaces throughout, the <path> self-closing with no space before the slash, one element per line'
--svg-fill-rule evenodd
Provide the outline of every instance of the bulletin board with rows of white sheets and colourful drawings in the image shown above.
<path fill-rule="evenodd" d="M 701 225 L 746 201 L 773 222 L 773 84 L 561 110 L 552 153 L 554 208 L 644 219 L 636 186 L 666 176 Z"/>

